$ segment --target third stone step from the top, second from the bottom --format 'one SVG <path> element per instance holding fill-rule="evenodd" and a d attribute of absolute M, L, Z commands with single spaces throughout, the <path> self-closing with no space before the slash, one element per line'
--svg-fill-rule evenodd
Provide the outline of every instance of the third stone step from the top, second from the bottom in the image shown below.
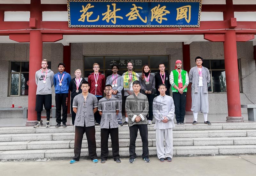
<path fill-rule="evenodd" d="M 129 139 L 119 139 L 119 147 L 129 147 Z M 0 142 L 0 151 L 8 150 L 41 150 L 41 149 L 69 149 L 74 148 L 74 140 L 49 141 L 13 141 Z M 164 143 L 165 145 L 165 143 Z M 174 138 L 173 146 L 216 146 L 216 145 L 256 145 L 256 137 L 223 137 L 223 138 Z M 100 148 L 100 139 L 96 140 L 96 147 Z M 108 140 L 111 148 L 111 140 Z M 142 147 L 140 139 L 136 140 L 136 147 Z M 148 139 L 148 147 L 156 147 L 156 139 Z M 88 148 L 87 140 L 83 140 L 82 148 Z"/>

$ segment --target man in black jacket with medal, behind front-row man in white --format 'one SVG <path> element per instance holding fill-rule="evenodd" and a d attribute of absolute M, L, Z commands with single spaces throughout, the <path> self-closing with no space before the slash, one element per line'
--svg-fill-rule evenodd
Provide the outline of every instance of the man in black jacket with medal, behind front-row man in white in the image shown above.
<path fill-rule="evenodd" d="M 157 72 L 157 74 L 155 74 L 155 81 L 156 81 L 156 95 L 160 95 L 160 92 L 158 91 L 158 86 L 161 84 L 164 84 L 166 86 L 166 95 L 170 96 L 170 87 L 171 84 L 169 82 L 169 73 L 167 71 L 165 71 L 165 66 L 163 63 L 159 64 L 159 72 Z"/>

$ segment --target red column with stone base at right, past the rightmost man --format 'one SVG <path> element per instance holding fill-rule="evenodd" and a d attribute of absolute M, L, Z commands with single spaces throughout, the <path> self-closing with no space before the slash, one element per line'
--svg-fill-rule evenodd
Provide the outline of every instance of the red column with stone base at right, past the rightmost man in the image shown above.
<path fill-rule="evenodd" d="M 244 122 L 244 117 L 241 114 L 235 30 L 228 30 L 225 34 L 224 57 L 228 100 L 226 121 Z"/>

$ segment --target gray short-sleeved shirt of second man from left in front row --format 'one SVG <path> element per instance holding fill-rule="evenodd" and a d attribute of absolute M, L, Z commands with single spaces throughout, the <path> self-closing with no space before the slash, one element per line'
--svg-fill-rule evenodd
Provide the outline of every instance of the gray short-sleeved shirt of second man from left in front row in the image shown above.
<path fill-rule="evenodd" d="M 119 110 L 119 101 L 114 97 L 104 97 L 99 100 L 98 105 L 98 110 L 102 111 L 100 128 L 118 128 L 116 110 Z"/>

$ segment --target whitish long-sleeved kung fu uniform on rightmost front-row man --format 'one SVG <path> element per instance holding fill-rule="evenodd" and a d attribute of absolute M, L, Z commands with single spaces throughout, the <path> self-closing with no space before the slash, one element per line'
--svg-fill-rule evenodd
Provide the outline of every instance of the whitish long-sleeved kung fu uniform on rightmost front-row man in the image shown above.
<path fill-rule="evenodd" d="M 154 128 L 156 129 L 156 152 L 157 157 L 166 158 L 173 155 L 173 139 L 172 128 L 175 127 L 174 119 L 174 103 L 171 96 L 164 97 L 158 95 L 153 101 L 153 115 L 156 119 Z M 164 117 L 167 117 L 168 122 L 164 123 Z M 165 139 L 165 148 L 164 148 Z"/>

